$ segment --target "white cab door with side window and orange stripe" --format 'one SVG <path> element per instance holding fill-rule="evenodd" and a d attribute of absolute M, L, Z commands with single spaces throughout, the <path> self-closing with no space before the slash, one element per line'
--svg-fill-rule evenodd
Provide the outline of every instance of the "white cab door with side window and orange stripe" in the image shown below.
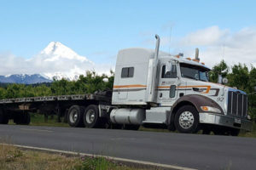
<path fill-rule="evenodd" d="M 172 105 L 177 99 L 177 64 L 174 61 L 160 63 L 158 102 Z"/>

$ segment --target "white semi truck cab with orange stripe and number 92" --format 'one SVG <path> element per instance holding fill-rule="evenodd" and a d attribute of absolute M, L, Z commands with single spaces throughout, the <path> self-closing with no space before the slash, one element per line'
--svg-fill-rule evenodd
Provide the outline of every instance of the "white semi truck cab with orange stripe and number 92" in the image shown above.
<path fill-rule="evenodd" d="M 111 122 L 127 125 L 166 126 L 181 133 L 238 134 L 249 131 L 247 94 L 209 82 L 210 69 L 195 59 L 155 50 L 127 48 L 119 51 Z"/>

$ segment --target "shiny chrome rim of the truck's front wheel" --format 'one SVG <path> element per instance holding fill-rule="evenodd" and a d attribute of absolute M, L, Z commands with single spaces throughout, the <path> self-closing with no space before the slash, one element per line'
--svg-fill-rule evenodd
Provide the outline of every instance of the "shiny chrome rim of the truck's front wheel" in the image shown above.
<path fill-rule="evenodd" d="M 179 125 L 184 129 L 192 127 L 194 120 L 194 115 L 190 111 L 183 111 L 183 113 L 178 118 Z"/>

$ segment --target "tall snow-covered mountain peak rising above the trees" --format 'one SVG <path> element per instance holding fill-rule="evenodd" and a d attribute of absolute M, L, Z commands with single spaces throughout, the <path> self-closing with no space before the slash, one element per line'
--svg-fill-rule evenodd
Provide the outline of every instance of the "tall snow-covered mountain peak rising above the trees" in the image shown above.
<path fill-rule="evenodd" d="M 61 42 L 49 42 L 49 45 L 32 60 L 38 68 L 44 68 L 44 71 L 41 71 L 43 75 L 51 79 L 55 77 L 56 80 L 76 80 L 79 75 L 85 74 L 86 70 L 92 70 L 95 65 Z M 49 69 L 45 71 L 45 67 Z"/>

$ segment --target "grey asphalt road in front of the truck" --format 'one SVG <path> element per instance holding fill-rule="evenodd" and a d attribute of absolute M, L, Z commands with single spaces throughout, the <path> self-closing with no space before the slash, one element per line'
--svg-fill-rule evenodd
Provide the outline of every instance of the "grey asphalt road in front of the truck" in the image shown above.
<path fill-rule="evenodd" d="M 256 139 L 73 127 L 0 125 L 0 142 L 198 169 L 256 169 Z"/>

